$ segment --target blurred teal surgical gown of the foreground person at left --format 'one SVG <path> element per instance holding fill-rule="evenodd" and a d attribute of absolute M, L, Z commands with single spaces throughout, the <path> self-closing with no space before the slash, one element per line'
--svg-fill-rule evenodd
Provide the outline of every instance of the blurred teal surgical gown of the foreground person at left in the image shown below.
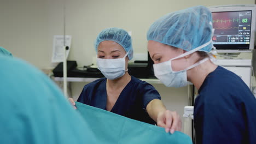
<path fill-rule="evenodd" d="M 100 143 L 53 81 L 1 53 L 0 98 L 0 143 Z"/>

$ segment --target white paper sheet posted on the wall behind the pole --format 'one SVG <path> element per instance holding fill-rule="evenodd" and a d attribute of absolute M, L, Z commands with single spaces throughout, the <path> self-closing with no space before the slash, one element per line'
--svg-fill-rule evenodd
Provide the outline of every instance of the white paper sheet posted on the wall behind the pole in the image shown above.
<path fill-rule="evenodd" d="M 54 35 L 53 41 L 53 57 L 51 57 L 51 62 L 63 62 L 63 46 L 64 46 L 64 35 Z M 71 46 L 71 35 L 66 35 L 65 46 L 68 46 L 69 49 L 66 50 L 66 58 Z"/>

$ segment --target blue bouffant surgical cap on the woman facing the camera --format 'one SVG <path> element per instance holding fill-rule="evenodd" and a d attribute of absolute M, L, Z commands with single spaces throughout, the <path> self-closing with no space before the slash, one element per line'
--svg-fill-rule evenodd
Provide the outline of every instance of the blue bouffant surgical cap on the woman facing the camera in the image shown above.
<path fill-rule="evenodd" d="M 106 28 L 98 34 L 95 40 L 95 50 L 98 50 L 98 45 L 105 40 L 112 40 L 121 45 L 128 53 L 128 58 L 131 60 L 133 57 L 132 39 L 129 33 L 124 29 L 112 27 Z"/>

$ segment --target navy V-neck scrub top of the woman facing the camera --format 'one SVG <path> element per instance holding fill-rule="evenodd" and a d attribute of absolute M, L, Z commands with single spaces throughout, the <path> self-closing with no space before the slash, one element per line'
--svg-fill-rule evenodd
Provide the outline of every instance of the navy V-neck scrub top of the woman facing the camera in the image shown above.
<path fill-rule="evenodd" d="M 85 85 L 77 101 L 106 110 L 106 82 L 106 78 L 101 78 Z M 148 103 L 153 99 L 161 99 L 158 91 L 149 83 L 131 76 L 131 81 L 120 93 L 117 102 L 110 112 L 137 121 L 155 124 L 146 111 Z"/>

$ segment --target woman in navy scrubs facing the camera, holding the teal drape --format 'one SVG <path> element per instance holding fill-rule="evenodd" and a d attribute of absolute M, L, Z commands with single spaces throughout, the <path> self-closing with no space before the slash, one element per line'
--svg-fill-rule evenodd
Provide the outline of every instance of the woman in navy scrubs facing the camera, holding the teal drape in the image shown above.
<path fill-rule="evenodd" d="M 85 85 L 78 102 L 137 121 L 156 122 L 166 132 L 181 130 L 179 115 L 166 110 L 158 91 L 127 72 L 133 49 L 131 36 L 124 29 L 104 29 L 98 34 L 95 49 L 98 69 L 106 78 Z M 72 98 L 69 100 L 75 105 Z"/>

